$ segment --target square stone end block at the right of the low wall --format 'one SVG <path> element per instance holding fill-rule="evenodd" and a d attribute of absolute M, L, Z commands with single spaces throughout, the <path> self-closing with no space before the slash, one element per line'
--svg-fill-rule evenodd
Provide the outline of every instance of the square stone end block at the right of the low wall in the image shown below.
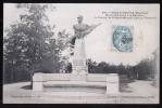
<path fill-rule="evenodd" d="M 120 78 L 117 73 L 109 73 L 107 77 L 107 94 L 120 93 Z"/>

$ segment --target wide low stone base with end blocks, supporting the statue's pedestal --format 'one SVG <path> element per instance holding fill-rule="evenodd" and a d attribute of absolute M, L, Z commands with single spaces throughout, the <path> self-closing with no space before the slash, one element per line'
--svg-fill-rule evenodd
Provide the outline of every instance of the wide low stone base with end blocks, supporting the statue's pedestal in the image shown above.
<path fill-rule="evenodd" d="M 105 89 L 107 94 L 119 94 L 120 82 L 117 73 L 35 73 L 33 77 L 33 92 L 51 91 L 54 87 L 63 90 L 72 87 Z M 53 90 L 52 90 L 53 91 Z M 60 90 L 59 90 L 60 91 Z"/>

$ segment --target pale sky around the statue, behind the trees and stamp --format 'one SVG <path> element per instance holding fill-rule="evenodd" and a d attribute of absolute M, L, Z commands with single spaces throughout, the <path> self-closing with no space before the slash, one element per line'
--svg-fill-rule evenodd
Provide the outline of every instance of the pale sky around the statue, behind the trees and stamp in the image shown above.
<path fill-rule="evenodd" d="M 53 11 L 48 11 L 47 15 L 51 25 L 55 25 L 55 30 L 65 29 L 66 32 L 74 33 L 73 25 L 77 23 L 77 16 L 84 16 L 84 23 L 88 25 L 102 23 L 91 33 L 85 38 L 86 56 L 97 63 L 107 62 L 114 65 L 136 65 L 144 58 L 152 58 L 152 52 L 159 49 L 160 39 L 160 10 L 158 4 L 52 4 Z M 18 19 L 22 10 L 17 10 L 14 4 L 4 4 L 3 27 L 9 27 Z M 148 12 L 148 16 L 153 19 L 104 19 L 95 18 L 101 16 L 102 12 L 137 11 Z M 114 25 L 133 26 L 133 52 L 117 52 L 112 44 L 112 27 Z"/>

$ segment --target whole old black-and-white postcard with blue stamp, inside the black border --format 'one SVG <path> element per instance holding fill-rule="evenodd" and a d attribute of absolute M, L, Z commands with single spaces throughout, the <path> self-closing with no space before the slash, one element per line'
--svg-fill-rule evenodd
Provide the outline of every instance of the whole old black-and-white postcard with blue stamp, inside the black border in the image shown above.
<path fill-rule="evenodd" d="M 3 104 L 159 104 L 159 3 L 3 3 Z"/>

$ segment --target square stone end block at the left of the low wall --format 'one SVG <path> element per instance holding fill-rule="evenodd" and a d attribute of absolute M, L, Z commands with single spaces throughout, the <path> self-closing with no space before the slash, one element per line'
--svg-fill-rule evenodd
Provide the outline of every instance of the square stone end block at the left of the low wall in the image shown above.
<path fill-rule="evenodd" d="M 33 91 L 42 91 L 42 73 L 35 73 L 33 77 Z"/>

